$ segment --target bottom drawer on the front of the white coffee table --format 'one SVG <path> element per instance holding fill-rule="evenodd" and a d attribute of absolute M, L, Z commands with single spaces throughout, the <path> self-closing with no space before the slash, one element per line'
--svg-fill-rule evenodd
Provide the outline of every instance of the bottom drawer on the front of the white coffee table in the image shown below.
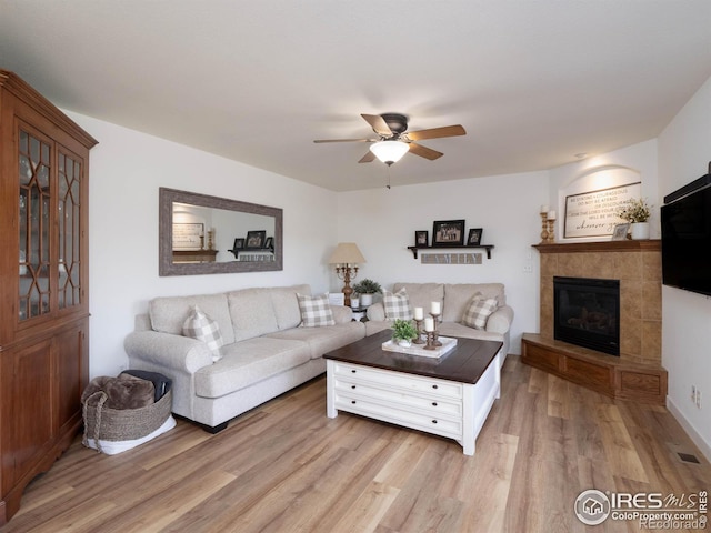
<path fill-rule="evenodd" d="M 349 398 L 337 394 L 336 409 L 361 414 L 370 419 L 382 420 L 413 430 L 421 430 L 450 439 L 462 438 L 462 420 L 447 416 L 434 416 L 425 413 L 413 413 L 397 405 L 383 405 L 370 399 Z"/>

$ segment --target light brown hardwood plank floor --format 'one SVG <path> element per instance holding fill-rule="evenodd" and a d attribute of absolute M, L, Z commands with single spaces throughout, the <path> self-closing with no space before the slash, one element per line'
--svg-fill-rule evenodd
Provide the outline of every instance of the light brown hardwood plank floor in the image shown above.
<path fill-rule="evenodd" d="M 509 356 L 472 457 L 454 441 L 328 419 L 319 378 L 217 435 L 179 421 L 113 456 L 78 438 L 2 533 L 645 531 L 585 529 L 573 503 L 593 487 L 688 495 L 711 490 L 711 466 L 664 408 L 612 401 Z"/>

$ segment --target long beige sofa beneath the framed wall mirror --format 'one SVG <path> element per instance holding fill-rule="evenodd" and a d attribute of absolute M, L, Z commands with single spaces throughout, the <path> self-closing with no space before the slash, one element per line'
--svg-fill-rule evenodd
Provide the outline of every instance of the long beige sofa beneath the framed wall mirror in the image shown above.
<path fill-rule="evenodd" d="M 321 355 L 365 336 L 349 308 L 331 306 L 334 324 L 300 326 L 297 294 L 309 285 L 156 298 L 124 341 L 131 369 L 173 380 L 173 413 L 217 432 L 234 416 L 323 373 Z M 221 359 L 182 334 L 198 305 L 219 324 Z"/>

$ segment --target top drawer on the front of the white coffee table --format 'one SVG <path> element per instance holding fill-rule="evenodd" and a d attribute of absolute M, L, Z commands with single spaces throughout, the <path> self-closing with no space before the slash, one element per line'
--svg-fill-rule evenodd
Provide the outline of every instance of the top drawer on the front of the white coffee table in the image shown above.
<path fill-rule="evenodd" d="M 443 399 L 460 400 L 462 398 L 461 383 L 342 363 L 340 361 L 336 363 L 336 379 L 347 383 L 368 383 L 388 389 L 397 388 L 409 392 L 435 394 Z"/>

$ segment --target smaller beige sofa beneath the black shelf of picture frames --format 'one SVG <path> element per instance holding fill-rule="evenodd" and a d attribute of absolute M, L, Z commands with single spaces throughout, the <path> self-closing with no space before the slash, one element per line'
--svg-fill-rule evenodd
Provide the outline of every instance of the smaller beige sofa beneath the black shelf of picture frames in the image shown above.
<path fill-rule="evenodd" d="M 430 312 L 432 302 L 440 302 L 441 315 L 439 333 L 444 336 L 461 336 L 484 341 L 501 341 L 503 346 L 500 358 L 501 364 L 509 353 L 509 330 L 513 321 L 513 309 L 507 305 L 507 296 L 502 283 L 395 283 L 392 293 L 404 289 L 410 308 L 423 308 L 425 316 Z M 488 316 L 483 329 L 464 325 L 462 318 L 474 294 L 480 293 L 484 299 L 495 299 L 495 311 Z M 389 328 L 392 323 L 385 316 L 383 302 L 368 308 L 367 334 Z"/>

